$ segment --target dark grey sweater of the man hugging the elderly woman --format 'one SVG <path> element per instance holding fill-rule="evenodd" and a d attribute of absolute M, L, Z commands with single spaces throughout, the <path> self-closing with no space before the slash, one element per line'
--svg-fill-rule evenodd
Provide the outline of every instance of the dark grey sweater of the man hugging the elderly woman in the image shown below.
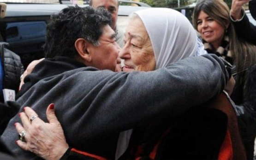
<path fill-rule="evenodd" d="M 108 159 L 114 158 L 120 131 L 184 113 L 219 94 L 228 80 L 222 61 L 209 54 L 156 71 L 131 73 L 80 66 L 71 70 L 71 63 L 62 60 L 63 66 L 54 65 L 56 59 L 46 59 L 35 68 L 38 80 L 27 82 L 32 84 L 17 101 L 20 112 L 30 106 L 47 122 L 46 107 L 55 103 L 67 143 Z M 58 67 L 66 71 L 59 73 Z M 20 122 L 18 114 L 1 138 L 15 154 L 31 159 L 36 155 L 15 143 L 15 122 Z"/>

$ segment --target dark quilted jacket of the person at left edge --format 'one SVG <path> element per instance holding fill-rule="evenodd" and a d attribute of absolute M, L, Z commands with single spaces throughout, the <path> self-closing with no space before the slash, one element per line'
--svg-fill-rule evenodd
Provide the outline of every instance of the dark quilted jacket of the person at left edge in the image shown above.
<path fill-rule="evenodd" d="M 1 64 L 4 69 L 3 89 L 12 89 L 17 93 L 20 76 L 23 74 L 24 68 L 20 57 L 9 49 L 4 48 L 6 44 L 8 43 L 0 42 Z M 2 94 L 0 94 L 0 99 L 3 102 Z"/>

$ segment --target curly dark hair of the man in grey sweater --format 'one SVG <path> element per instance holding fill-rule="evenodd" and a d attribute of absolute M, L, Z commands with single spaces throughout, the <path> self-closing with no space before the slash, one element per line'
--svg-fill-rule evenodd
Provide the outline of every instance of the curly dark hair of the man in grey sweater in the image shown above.
<path fill-rule="evenodd" d="M 74 58 L 77 55 L 74 44 L 78 38 L 84 38 L 97 46 L 100 44 L 98 40 L 103 33 L 103 27 L 111 23 L 111 15 L 105 9 L 68 6 L 51 17 L 44 46 L 45 57 Z"/>

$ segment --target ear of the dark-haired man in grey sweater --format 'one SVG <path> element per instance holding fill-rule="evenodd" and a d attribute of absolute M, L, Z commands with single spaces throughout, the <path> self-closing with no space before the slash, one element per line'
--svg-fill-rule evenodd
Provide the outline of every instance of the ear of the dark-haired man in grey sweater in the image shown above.
<path fill-rule="evenodd" d="M 91 55 L 88 51 L 89 44 L 90 44 L 89 41 L 83 38 L 78 38 L 75 41 L 75 47 L 77 49 L 77 53 L 79 54 L 80 58 L 82 58 L 87 62 L 91 61 Z"/>

